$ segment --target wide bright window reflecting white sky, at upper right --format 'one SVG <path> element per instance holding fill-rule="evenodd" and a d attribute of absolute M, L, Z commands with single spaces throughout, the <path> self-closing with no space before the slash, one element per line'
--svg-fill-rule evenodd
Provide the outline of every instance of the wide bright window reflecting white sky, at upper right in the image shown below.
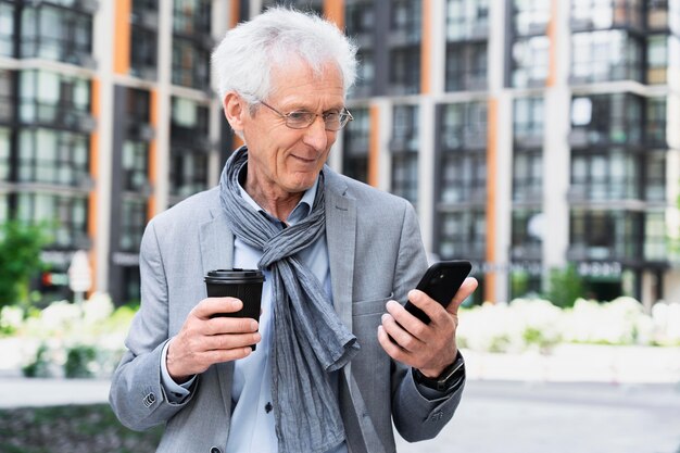
<path fill-rule="evenodd" d="M 571 81 L 642 81 L 642 43 L 624 30 L 571 36 Z"/>

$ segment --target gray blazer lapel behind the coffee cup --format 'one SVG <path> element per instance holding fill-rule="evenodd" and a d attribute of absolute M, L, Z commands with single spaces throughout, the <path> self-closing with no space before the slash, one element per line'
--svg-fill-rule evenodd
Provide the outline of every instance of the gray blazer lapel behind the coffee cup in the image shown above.
<path fill-rule="evenodd" d="M 230 268 L 234 266 L 234 235 L 225 221 L 225 214 L 217 207 L 211 207 L 212 218 L 200 226 L 199 238 L 201 243 L 201 263 L 203 275 L 210 270 Z M 231 416 L 231 388 L 234 378 L 234 363 L 221 363 L 213 367 L 217 374 L 219 392 L 222 397 L 227 421 Z M 229 423 L 227 423 L 227 427 Z M 227 428 L 228 429 L 228 428 Z"/>

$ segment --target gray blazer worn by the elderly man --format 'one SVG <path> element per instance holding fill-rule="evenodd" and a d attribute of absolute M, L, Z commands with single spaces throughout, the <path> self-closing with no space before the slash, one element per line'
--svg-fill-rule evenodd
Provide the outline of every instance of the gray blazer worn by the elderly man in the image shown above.
<path fill-rule="evenodd" d="M 413 206 L 328 167 L 324 173 L 333 304 L 361 344 L 340 379 L 348 446 L 352 453 L 393 452 L 392 419 L 407 441 L 431 439 L 453 416 L 462 387 L 449 398 L 426 400 L 410 368 L 393 362 L 378 343 L 386 302 L 404 302 L 427 267 Z M 142 303 L 113 376 L 110 402 L 131 429 L 166 424 L 159 452 L 225 452 L 234 364 L 210 367 L 187 400 L 173 404 L 161 383 L 161 351 L 206 297 L 205 273 L 231 267 L 232 253 L 234 236 L 217 188 L 158 215 L 144 231 Z"/>

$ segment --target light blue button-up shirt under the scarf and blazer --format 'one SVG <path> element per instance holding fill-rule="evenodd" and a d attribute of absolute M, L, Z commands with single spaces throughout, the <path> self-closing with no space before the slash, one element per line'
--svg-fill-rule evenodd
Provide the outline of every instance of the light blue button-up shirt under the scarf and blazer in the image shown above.
<path fill-rule="evenodd" d="M 295 225 L 302 222 L 312 211 L 318 179 L 312 188 L 306 190 L 290 213 L 286 223 Z M 272 224 L 278 228 L 284 228 L 285 224 L 267 214 L 255 201 L 241 188 L 241 197 L 248 203 L 260 211 Z M 262 251 L 255 249 L 240 239 L 234 241 L 234 267 L 244 269 L 257 268 L 257 262 L 262 256 Z M 320 236 L 312 246 L 299 253 L 299 257 L 306 265 L 318 281 L 323 282 L 328 299 L 332 303 L 330 289 L 330 266 L 328 262 L 328 247 L 326 237 Z M 260 315 L 260 334 L 262 341 L 255 351 L 245 358 L 236 361 L 234 364 L 234 382 L 231 385 L 231 427 L 227 442 L 228 453 L 241 452 L 276 452 L 278 441 L 276 439 L 275 419 L 272 401 L 272 378 L 269 364 L 269 350 L 273 338 L 273 301 L 272 301 L 272 278 L 270 272 L 263 269 L 265 281 L 262 288 L 262 314 Z M 171 402 L 178 403 L 189 394 L 190 381 L 177 385 L 167 373 L 165 357 L 167 344 L 163 351 L 161 369 L 163 385 Z M 338 393 L 338 372 L 330 376 L 330 382 Z M 342 443 L 328 453 L 347 453 L 347 444 Z"/>

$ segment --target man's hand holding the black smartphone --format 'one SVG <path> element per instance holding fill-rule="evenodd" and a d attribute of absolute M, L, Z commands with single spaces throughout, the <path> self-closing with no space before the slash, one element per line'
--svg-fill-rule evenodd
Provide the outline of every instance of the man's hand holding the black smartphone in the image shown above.
<path fill-rule="evenodd" d="M 378 326 L 378 341 L 382 349 L 390 357 L 418 368 L 425 376 L 438 377 L 455 360 L 458 351 L 455 339 L 458 309 L 475 289 L 477 280 L 466 278 L 445 309 L 423 291 L 410 291 L 411 303 L 430 317 L 431 322 L 427 325 L 399 302 L 389 301 L 388 313 L 382 315 L 382 325 Z"/>

